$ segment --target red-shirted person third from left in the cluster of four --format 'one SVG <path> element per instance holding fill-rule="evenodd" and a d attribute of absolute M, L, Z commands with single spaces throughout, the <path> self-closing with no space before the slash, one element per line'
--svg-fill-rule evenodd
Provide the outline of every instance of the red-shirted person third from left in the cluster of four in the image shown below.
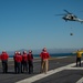
<path fill-rule="evenodd" d="M 24 71 L 28 72 L 28 54 L 27 54 L 27 51 L 23 51 L 23 54 L 22 54 L 22 66 L 23 66 L 23 72 Z"/>

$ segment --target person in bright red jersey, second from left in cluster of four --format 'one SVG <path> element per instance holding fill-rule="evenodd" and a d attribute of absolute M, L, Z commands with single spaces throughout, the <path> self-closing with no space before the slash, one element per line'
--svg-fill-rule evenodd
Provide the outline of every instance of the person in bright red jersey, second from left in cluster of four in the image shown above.
<path fill-rule="evenodd" d="M 15 73 L 21 73 L 22 55 L 21 55 L 20 52 L 18 52 L 18 54 L 17 54 L 15 58 L 14 58 L 14 60 L 15 60 L 15 63 L 17 63 L 17 65 L 15 65 L 17 72 L 15 72 Z"/>

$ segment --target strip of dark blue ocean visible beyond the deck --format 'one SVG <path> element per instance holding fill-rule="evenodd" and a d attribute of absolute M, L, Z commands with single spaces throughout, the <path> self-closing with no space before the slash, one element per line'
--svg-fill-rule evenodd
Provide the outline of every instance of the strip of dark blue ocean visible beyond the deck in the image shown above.
<path fill-rule="evenodd" d="M 58 58 L 58 56 L 74 56 L 76 55 L 75 53 L 53 53 L 50 54 L 52 58 Z M 9 55 L 9 58 L 13 58 L 13 55 Z M 33 54 L 33 58 L 40 58 L 40 54 Z"/>

